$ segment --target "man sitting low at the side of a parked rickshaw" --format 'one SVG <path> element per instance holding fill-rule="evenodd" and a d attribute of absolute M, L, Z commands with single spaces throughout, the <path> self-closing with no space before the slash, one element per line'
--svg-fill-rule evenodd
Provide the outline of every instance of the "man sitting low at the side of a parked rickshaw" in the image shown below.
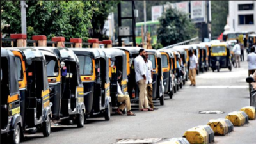
<path fill-rule="evenodd" d="M 121 79 L 122 76 L 122 72 L 118 71 L 118 80 Z M 120 88 L 119 83 L 117 82 L 117 101 L 118 102 L 122 102 L 122 104 L 118 107 L 118 109 L 116 109 L 116 113 L 118 113 L 118 115 L 123 115 L 123 113 L 120 111 L 120 109 L 123 111 L 125 106 L 127 108 L 127 115 L 128 116 L 135 116 L 135 113 L 132 113 L 131 111 L 131 101 L 130 101 L 130 97 L 129 95 L 124 95 L 122 93 L 122 90 Z"/>

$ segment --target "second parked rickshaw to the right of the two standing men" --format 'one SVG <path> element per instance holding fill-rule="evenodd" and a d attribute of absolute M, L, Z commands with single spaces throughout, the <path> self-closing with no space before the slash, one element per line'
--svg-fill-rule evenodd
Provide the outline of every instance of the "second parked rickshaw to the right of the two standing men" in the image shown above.
<path fill-rule="evenodd" d="M 163 84 L 164 84 L 164 93 L 168 94 L 170 99 L 173 97 L 174 93 L 174 84 L 173 84 L 173 55 L 172 52 L 168 51 L 168 49 L 159 50 L 161 52 L 162 57 L 162 70 L 163 70 Z M 176 92 L 176 88 L 175 88 Z"/>

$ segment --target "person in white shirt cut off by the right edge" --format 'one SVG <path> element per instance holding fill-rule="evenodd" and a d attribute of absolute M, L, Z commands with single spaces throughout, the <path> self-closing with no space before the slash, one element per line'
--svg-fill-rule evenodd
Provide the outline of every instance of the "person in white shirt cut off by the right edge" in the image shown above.
<path fill-rule="evenodd" d="M 256 54 L 255 54 L 255 47 L 251 47 L 250 54 L 247 57 L 248 62 L 248 76 L 253 74 L 256 70 Z"/>

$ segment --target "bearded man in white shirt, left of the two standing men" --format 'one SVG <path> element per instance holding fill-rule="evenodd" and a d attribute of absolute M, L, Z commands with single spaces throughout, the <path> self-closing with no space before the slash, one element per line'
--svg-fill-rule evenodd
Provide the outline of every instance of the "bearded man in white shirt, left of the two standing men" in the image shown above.
<path fill-rule="evenodd" d="M 148 97 L 147 97 L 147 91 L 146 91 L 146 70 L 147 70 L 147 65 L 144 61 L 145 57 L 145 50 L 140 49 L 139 51 L 139 56 L 137 56 L 134 59 L 134 69 L 135 69 L 135 79 L 136 83 L 139 86 L 139 111 L 148 111 L 148 110 L 153 110 L 150 109 L 148 106 Z"/>

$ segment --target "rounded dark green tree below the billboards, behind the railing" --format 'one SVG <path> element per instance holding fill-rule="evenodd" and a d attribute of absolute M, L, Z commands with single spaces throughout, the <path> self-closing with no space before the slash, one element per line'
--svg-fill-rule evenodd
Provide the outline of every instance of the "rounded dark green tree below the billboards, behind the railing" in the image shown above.
<path fill-rule="evenodd" d="M 168 9 L 159 18 L 160 26 L 157 29 L 157 41 L 164 47 L 189 40 L 197 36 L 195 25 L 188 15 L 176 9 Z"/>

